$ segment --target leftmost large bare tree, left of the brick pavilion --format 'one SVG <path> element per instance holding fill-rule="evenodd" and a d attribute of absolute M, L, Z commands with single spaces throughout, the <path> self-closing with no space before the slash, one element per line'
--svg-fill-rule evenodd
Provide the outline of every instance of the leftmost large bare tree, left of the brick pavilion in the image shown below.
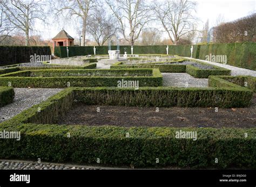
<path fill-rule="evenodd" d="M 33 30 L 35 20 L 45 20 L 44 4 L 36 0 L 2 0 L 1 5 L 5 23 L 10 25 L 11 30 L 23 31 L 25 45 L 28 46 L 29 32 Z"/>

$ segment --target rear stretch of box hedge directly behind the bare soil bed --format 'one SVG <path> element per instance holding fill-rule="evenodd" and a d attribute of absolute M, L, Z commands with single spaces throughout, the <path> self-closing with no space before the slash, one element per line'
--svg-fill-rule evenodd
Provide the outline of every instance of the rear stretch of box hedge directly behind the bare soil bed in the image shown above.
<path fill-rule="evenodd" d="M 77 96 L 78 102 L 86 104 L 156 107 L 246 107 L 251 104 L 253 95 L 251 90 L 235 84 L 232 88 L 87 88 L 78 92 L 84 92 Z"/>

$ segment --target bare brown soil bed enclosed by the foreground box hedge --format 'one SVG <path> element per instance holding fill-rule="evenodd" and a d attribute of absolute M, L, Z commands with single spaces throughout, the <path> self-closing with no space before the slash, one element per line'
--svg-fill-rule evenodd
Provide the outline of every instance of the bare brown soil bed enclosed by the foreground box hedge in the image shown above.
<path fill-rule="evenodd" d="M 100 111 L 97 112 L 97 107 Z M 75 104 L 58 121 L 59 125 L 115 125 L 168 127 L 256 127 L 256 95 L 247 108 L 218 109 L 214 107 L 125 107 Z"/>

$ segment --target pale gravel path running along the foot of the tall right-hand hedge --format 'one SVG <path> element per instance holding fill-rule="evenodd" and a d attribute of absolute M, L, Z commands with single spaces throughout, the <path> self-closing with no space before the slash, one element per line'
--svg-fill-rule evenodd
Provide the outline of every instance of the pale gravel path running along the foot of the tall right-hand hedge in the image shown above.
<path fill-rule="evenodd" d="M 193 58 L 184 57 L 184 59 L 193 59 Z M 213 64 L 215 66 L 219 66 L 219 67 L 223 67 L 223 68 L 226 68 L 226 69 L 230 69 L 232 76 L 250 75 L 250 76 L 256 77 L 256 71 L 254 71 L 254 70 L 245 69 L 245 68 L 238 68 L 238 67 L 235 67 L 235 66 L 230 66 L 230 65 L 227 65 L 227 64 L 217 63 L 217 62 L 210 62 L 210 61 L 206 61 L 206 60 L 199 60 L 199 59 L 193 59 L 193 60 L 198 60 L 200 62 L 206 62 L 206 63 L 209 63 L 209 64 Z"/>

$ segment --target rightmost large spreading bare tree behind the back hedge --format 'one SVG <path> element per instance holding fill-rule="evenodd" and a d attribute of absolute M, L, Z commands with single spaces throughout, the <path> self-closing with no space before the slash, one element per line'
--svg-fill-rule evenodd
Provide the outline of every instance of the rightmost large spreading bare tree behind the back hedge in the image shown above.
<path fill-rule="evenodd" d="M 168 33 L 171 42 L 177 42 L 184 35 L 197 31 L 194 25 L 197 18 L 193 12 L 196 10 L 196 3 L 188 0 L 166 0 L 163 3 L 154 2 L 153 10 L 156 18 Z"/>

